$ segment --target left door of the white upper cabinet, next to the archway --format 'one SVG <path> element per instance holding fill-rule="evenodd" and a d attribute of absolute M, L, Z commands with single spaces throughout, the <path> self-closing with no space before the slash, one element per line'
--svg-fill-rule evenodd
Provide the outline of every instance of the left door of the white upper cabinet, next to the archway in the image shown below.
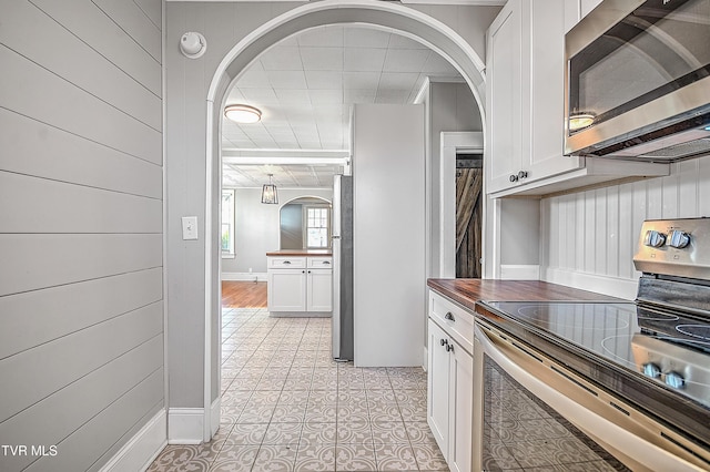
<path fill-rule="evenodd" d="M 486 51 L 488 193 L 517 185 L 510 182 L 510 175 L 521 170 L 523 3 L 520 0 L 508 1 L 488 29 Z"/>

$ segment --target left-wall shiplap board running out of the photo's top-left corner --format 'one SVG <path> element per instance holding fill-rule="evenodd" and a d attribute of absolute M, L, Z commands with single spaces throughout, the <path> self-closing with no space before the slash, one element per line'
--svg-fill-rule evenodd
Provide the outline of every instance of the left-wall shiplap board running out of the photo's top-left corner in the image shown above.
<path fill-rule="evenodd" d="M 140 12 L 134 3 L 124 3 Z M 160 96 L 37 7 L 26 1 L 7 2 L 7 7 L 3 7 L 4 14 L 11 20 L 4 21 L 0 29 L 0 43 L 160 131 Z M 141 16 L 155 30 L 145 16 Z M 156 30 L 155 34 L 160 48 L 160 31 Z M 58 54 L 57 50 L 47 48 L 49 43 L 62 53 Z"/>

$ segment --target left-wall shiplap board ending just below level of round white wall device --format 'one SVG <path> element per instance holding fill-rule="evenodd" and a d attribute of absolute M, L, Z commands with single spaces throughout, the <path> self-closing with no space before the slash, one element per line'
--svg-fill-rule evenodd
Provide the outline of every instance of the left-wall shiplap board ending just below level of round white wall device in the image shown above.
<path fill-rule="evenodd" d="M 85 0 L 62 0 L 61 2 L 30 0 L 30 2 L 155 95 L 162 96 L 160 62 L 95 4 Z"/>

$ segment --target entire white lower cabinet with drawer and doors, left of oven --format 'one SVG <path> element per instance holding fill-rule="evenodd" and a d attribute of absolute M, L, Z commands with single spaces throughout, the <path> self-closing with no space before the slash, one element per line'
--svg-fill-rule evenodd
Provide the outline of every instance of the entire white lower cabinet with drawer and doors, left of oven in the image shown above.
<path fill-rule="evenodd" d="M 474 316 L 429 291 L 427 422 L 452 471 L 470 471 Z"/>

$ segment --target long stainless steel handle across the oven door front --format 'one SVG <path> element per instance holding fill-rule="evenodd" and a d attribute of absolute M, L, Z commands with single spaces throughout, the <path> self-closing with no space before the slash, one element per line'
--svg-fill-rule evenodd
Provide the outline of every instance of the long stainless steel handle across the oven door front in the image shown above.
<path fill-rule="evenodd" d="M 703 469 L 679 458 L 662 448 L 648 442 L 643 438 L 633 434 L 612 421 L 604 418 L 597 412 L 576 402 L 570 397 L 561 393 L 557 389 L 541 381 L 539 377 L 549 378 L 551 369 L 545 367 L 539 359 L 530 356 L 530 362 L 525 368 L 519 366 L 515 357 L 520 357 L 523 349 L 516 349 L 505 340 L 498 342 L 494 340 L 497 336 L 487 332 L 478 326 L 478 321 L 474 325 L 475 338 L 479 341 L 483 351 L 490 357 L 498 366 L 500 366 L 510 377 L 518 383 L 528 389 L 532 394 L 549 406 L 555 406 L 560 414 L 571 421 L 577 428 L 595 439 L 599 444 L 627 455 L 637 462 L 640 468 L 649 471 L 672 470 L 672 471 L 702 471 Z M 508 351 L 508 352 L 506 352 Z M 554 372 L 555 373 L 555 372 Z M 562 378 L 555 373 L 556 376 Z M 569 382 L 569 380 L 565 379 Z M 559 383 L 559 382 L 558 382 Z M 636 468 L 635 468 L 636 470 Z"/>

